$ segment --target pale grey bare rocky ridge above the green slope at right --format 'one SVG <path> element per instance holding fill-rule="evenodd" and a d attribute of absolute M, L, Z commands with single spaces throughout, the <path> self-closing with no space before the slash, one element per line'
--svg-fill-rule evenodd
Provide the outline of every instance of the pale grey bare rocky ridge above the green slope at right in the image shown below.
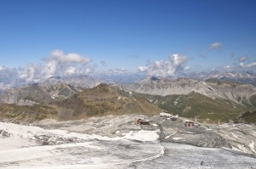
<path fill-rule="evenodd" d="M 220 82 L 209 80 L 200 82 L 194 79 L 146 79 L 143 82 L 125 85 L 125 89 L 136 93 L 150 95 L 188 95 L 191 92 L 201 93 L 211 99 L 229 99 L 237 104 L 254 104 L 256 87 L 250 84 Z"/>

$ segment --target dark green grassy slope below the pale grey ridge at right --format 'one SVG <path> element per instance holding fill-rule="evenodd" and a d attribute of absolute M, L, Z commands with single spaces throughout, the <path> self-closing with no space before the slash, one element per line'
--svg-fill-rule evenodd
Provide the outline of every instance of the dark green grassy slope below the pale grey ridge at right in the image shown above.
<path fill-rule="evenodd" d="M 180 115 L 212 122 L 235 120 L 246 110 L 253 110 L 252 105 L 236 104 L 228 99 L 211 99 L 200 93 L 188 95 L 145 95 L 150 102 L 173 115 Z"/>

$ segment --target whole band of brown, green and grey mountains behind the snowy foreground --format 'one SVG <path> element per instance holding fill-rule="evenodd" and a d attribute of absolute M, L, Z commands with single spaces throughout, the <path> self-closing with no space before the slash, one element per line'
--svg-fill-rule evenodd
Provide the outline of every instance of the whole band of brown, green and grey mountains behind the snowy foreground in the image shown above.
<path fill-rule="evenodd" d="M 253 79 L 253 76 L 247 78 Z M 42 83 L 9 88 L 1 95 L 0 111 L 22 119 L 24 112 L 33 114 L 38 109 L 38 115 L 43 114 L 39 119 L 51 116 L 60 120 L 91 115 L 156 115 L 160 111 L 168 111 L 190 118 L 198 116 L 212 121 L 228 121 L 256 109 L 256 87 L 224 81 L 223 76 L 212 75 L 207 80 L 152 76 L 137 82 L 135 76 L 132 78 L 134 82 L 110 81 L 111 76 L 104 78 L 56 76 Z M 122 78 L 119 76 L 117 79 Z M 104 83 L 107 80 L 108 84 Z M 44 110 L 49 113 L 44 113 Z"/>

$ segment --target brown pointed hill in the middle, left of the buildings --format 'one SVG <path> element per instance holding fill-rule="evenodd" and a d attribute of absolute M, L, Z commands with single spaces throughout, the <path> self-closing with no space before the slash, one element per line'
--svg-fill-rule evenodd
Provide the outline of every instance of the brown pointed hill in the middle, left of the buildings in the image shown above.
<path fill-rule="evenodd" d="M 58 102 L 61 107 L 73 110 L 73 116 L 143 114 L 155 115 L 160 109 L 143 97 L 133 97 L 116 87 L 101 83 Z M 65 116 L 65 115 L 64 115 Z"/>

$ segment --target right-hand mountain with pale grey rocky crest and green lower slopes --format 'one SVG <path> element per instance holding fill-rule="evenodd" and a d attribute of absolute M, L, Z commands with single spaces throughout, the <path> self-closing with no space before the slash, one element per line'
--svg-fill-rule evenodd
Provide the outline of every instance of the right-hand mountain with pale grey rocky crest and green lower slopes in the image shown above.
<path fill-rule="evenodd" d="M 256 109 L 256 87 L 250 84 L 152 77 L 123 88 L 173 115 L 197 116 L 206 122 L 236 121 L 237 116 Z"/>

